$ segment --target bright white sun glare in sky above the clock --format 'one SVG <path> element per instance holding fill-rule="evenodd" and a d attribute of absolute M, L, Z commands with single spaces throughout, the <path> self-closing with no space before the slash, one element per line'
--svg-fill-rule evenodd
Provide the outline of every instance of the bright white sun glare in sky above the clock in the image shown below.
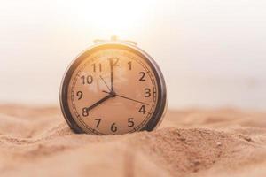
<path fill-rule="evenodd" d="M 156 1 L 152 0 L 66 1 L 63 11 L 70 14 L 69 18 L 79 23 L 79 27 L 88 27 L 99 34 L 128 35 L 140 30 L 154 4 Z"/>

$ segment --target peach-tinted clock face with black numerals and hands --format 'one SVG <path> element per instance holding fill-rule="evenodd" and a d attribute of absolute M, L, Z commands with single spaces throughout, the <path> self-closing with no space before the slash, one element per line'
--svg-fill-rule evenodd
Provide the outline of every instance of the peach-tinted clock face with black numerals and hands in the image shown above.
<path fill-rule="evenodd" d="M 67 105 L 82 131 L 117 135 L 141 130 L 153 118 L 158 81 L 147 58 L 108 47 L 83 55 L 67 84 Z"/>

